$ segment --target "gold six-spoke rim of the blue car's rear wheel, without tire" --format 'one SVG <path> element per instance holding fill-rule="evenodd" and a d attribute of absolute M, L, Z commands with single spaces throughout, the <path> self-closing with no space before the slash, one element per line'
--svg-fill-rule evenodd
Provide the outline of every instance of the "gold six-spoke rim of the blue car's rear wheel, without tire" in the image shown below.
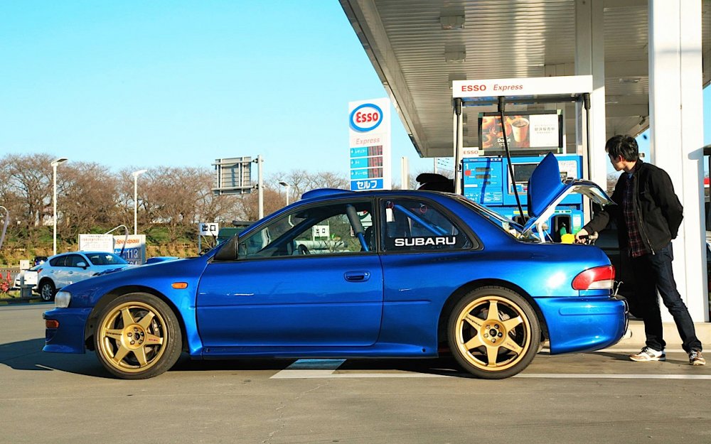
<path fill-rule="evenodd" d="M 456 319 L 456 347 L 477 369 L 499 372 L 518 364 L 531 344 L 531 325 L 523 308 L 508 298 L 482 296 Z"/>

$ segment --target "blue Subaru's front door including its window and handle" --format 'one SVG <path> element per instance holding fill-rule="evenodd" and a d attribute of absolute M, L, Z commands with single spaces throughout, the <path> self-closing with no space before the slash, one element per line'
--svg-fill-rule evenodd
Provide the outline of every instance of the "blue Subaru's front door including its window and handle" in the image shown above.
<path fill-rule="evenodd" d="M 230 239 L 201 277 L 206 347 L 367 346 L 378 340 L 383 272 L 365 240 L 371 200 L 301 206 Z"/>

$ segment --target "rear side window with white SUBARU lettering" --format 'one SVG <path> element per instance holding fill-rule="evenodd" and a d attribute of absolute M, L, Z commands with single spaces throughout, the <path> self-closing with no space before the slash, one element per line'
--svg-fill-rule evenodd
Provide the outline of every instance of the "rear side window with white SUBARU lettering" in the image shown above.
<path fill-rule="evenodd" d="M 432 202 L 416 199 L 384 199 L 381 227 L 385 251 L 461 250 L 471 240 Z"/>

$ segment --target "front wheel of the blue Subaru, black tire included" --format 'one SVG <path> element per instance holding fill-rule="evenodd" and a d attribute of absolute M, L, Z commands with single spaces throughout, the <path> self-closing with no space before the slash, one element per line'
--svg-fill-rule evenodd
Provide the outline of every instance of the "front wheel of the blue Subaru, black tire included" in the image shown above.
<path fill-rule="evenodd" d="M 102 310 L 94 332 L 99 361 L 121 379 L 147 379 L 173 367 L 183 347 L 173 310 L 148 293 L 130 293 Z"/>

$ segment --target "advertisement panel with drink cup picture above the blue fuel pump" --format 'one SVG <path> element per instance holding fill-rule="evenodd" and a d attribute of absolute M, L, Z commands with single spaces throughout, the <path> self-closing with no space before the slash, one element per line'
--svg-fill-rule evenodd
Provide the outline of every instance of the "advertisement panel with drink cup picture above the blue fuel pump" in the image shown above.
<path fill-rule="evenodd" d="M 562 113 L 506 113 L 503 126 L 499 114 L 479 115 L 479 145 L 484 153 L 503 151 L 504 134 L 511 151 L 558 151 L 563 146 Z"/>

